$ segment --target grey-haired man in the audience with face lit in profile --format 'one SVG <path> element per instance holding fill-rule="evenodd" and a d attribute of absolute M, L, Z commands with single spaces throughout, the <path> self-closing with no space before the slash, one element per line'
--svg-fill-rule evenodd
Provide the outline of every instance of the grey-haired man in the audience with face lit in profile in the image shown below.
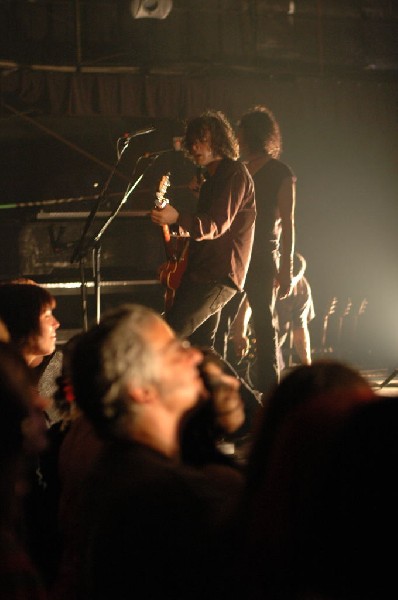
<path fill-rule="evenodd" d="M 180 459 L 182 417 L 202 391 L 201 352 L 154 311 L 119 307 L 76 342 L 78 406 L 104 443 L 82 511 L 85 598 L 217 595 L 215 548 L 235 493 Z"/>

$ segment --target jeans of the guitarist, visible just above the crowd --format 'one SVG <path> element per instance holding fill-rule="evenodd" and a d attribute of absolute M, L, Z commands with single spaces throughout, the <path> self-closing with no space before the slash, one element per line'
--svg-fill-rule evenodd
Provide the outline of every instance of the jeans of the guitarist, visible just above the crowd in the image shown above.
<path fill-rule="evenodd" d="M 236 294 L 225 282 L 192 283 L 183 279 L 165 318 L 174 331 L 197 346 L 213 347 L 223 306 Z"/>

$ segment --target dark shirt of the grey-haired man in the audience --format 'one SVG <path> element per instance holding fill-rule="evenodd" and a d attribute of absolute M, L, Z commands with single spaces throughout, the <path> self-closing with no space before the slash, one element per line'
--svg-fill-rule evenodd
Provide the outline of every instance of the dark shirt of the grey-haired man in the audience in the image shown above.
<path fill-rule="evenodd" d="M 210 597 L 230 504 L 214 482 L 147 446 L 113 442 L 86 500 L 85 600 Z"/>

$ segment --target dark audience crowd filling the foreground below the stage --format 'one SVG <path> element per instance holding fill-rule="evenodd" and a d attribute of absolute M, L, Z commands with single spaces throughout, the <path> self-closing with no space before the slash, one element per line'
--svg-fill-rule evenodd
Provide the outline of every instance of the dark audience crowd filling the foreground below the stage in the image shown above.
<path fill-rule="evenodd" d="M 9 323 L 2 598 L 394 595 L 398 404 L 355 368 L 293 367 L 260 402 L 214 351 L 131 304 L 65 346 L 41 399 Z"/>

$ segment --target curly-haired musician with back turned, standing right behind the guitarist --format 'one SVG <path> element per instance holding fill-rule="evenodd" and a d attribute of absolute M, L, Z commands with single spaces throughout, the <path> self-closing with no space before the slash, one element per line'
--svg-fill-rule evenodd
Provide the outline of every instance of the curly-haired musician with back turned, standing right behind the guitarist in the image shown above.
<path fill-rule="evenodd" d="M 283 299 L 292 291 L 296 178 L 279 160 L 279 125 L 265 106 L 255 106 L 241 117 L 238 140 L 256 194 L 256 234 L 245 290 L 256 335 L 256 387 L 267 393 L 279 381 L 276 294 Z"/>

